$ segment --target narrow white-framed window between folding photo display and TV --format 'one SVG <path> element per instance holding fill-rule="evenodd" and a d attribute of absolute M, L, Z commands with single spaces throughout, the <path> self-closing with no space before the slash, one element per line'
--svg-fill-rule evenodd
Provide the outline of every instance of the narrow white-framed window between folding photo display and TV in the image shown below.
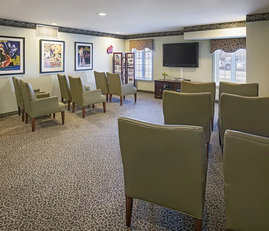
<path fill-rule="evenodd" d="M 152 50 L 145 48 L 142 51 L 132 49 L 134 52 L 134 78 L 140 80 L 152 80 Z"/>

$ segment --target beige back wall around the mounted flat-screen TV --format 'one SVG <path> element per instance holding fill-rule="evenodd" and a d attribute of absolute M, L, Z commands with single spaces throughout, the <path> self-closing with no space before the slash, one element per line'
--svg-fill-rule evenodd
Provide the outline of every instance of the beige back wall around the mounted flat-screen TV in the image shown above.
<path fill-rule="evenodd" d="M 184 40 L 183 35 L 154 37 L 153 39 L 153 79 L 161 79 L 162 72 L 167 72 L 167 79 L 180 77 L 179 67 L 163 67 L 163 44 L 165 43 L 188 43 L 199 42 L 199 67 L 186 68 L 183 67 L 183 78 L 191 79 L 191 81 L 210 82 L 212 81 L 212 54 L 210 54 L 210 40 L 189 41 Z M 129 40 L 125 41 L 125 52 L 129 52 Z M 182 77 L 182 76 L 181 76 Z M 136 81 L 136 87 L 139 90 L 154 91 L 154 81 Z"/>

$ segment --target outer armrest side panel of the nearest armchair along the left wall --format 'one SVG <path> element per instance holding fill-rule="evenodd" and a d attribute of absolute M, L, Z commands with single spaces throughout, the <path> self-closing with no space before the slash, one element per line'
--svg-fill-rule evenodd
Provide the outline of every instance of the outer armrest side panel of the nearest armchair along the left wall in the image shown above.
<path fill-rule="evenodd" d="M 59 111 L 58 105 L 59 105 L 58 96 L 43 99 L 35 99 L 30 102 L 30 107 L 32 110 L 31 117 L 56 113 Z"/>

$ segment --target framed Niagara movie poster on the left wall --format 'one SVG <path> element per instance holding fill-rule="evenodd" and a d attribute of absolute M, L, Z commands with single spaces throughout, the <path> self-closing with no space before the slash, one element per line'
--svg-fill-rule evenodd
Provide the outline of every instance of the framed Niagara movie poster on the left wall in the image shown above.
<path fill-rule="evenodd" d="M 64 72 L 64 41 L 40 39 L 40 73 Z"/>

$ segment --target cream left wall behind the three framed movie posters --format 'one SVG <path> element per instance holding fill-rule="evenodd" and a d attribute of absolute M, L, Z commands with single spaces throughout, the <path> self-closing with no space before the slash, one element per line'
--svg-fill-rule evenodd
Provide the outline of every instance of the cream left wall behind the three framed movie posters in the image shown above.
<path fill-rule="evenodd" d="M 36 30 L 0 26 L 2 36 L 25 37 L 25 75 L 15 75 L 28 81 L 33 88 L 49 92 L 51 96 L 60 98 L 57 73 L 39 73 L 39 40 Z M 53 39 L 49 39 L 53 40 Z M 112 54 L 106 49 L 112 45 L 115 51 L 124 52 L 125 40 L 88 35 L 59 33 L 59 40 L 65 41 L 65 75 L 80 76 L 84 85 L 96 89 L 93 70 L 112 72 Z M 93 70 L 74 71 L 74 42 L 93 43 Z M 12 75 L 0 76 L 0 114 L 17 110 Z"/>

